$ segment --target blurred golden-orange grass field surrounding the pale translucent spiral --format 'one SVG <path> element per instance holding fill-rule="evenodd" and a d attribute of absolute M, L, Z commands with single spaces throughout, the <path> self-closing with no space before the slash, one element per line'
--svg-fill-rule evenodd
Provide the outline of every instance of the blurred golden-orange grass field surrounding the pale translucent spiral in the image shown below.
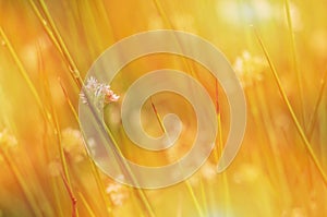
<path fill-rule="evenodd" d="M 0 0 L 0 217 L 327 216 L 326 9 L 325 0 Z M 196 34 L 226 55 L 244 88 L 246 132 L 232 165 L 216 173 L 230 118 L 219 83 L 179 56 L 131 62 L 111 84 L 121 98 L 146 72 L 179 69 L 218 101 L 221 126 L 211 156 L 190 179 L 134 189 L 86 154 L 78 94 L 109 46 L 162 28 Z M 196 119 L 180 96 L 154 95 L 142 111 L 152 135 L 162 134 L 159 117 L 180 116 L 183 132 L 167 152 L 135 147 L 120 105 L 106 106 L 105 120 L 126 158 L 160 166 L 190 149 Z"/>

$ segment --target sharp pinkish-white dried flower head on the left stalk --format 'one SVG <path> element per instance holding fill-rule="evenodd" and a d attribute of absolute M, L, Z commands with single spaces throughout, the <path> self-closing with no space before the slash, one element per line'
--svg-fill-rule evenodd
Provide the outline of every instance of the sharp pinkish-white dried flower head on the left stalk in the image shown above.
<path fill-rule="evenodd" d="M 93 101 L 97 108 L 119 99 L 119 96 L 111 91 L 110 85 L 98 82 L 94 76 L 87 79 L 80 97 L 83 104 Z"/>

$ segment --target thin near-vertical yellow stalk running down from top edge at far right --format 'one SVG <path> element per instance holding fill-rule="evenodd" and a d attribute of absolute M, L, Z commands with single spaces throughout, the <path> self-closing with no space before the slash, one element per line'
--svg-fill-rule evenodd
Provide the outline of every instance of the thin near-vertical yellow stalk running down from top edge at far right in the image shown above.
<path fill-rule="evenodd" d="M 305 106 L 304 106 L 304 92 L 303 92 L 303 79 L 299 69 L 298 56 L 296 56 L 296 46 L 295 46 L 295 37 L 293 33 L 293 24 L 291 17 L 290 2 L 289 0 L 284 0 L 286 4 L 286 13 L 288 20 L 289 34 L 291 37 L 291 52 L 292 52 L 292 61 L 296 75 L 296 83 L 299 88 L 299 100 L 300 100 L 300 117 L 302 126 L 305 129 Z"/>

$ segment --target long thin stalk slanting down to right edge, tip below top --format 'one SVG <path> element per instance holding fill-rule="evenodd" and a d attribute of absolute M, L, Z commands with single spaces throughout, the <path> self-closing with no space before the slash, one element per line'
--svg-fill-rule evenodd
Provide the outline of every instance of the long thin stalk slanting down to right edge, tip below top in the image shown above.
<path fill-rule="evenodd" d="M 294 110 L 293 110 L 293 108 L 292 108 L 292 106 L 291 106 L 291 104 L 290 104 L 290 101 L 288 99 L 288 96 L 287 96 L 287 94 L 286 94 L 286 92 L 284 92 L 284 89 L 283 89 L 283 87 L 281 85 L 279 75 L 278 75 L 278 73 L 277 73 L 277 71 L 275 69 L 275 65 L 272 64 L 272 61 L 271 61 L 271 59 L 269 57 L 269 53 L 268 53 L 268 51 L 267 51 L 267 49 L 266 49 L 266 47 L 265 47 L 265 45 L 264 45 L 264 43 L 263 43 L 259 34 L 258 34 L 258 32 L 255 28 L 254 28 L 254 33 L 255 33 L 256 38 L 257 38 L 257 40 L 258 40 L 258 43 L 259 43 L 259 45 L 261 45 L 261 47 L 262 47 L 262 49 L 263 49 L 263 51 L 265 53 L 265 57 L 266 57 L 267 61 L 269 63 L 270 70 L 271 70 L 271 72 L 274 74 L 274 77 L 276 80 L 276 83 L 278 85 L 278 89 L 279 89 L 279 92 L 281 94 L 281 97 L 282 97 L 283 101 L 286 103 L 286 106 L 287 106 L 287 108 L 288 108 L 288 110 L 289 110 L 289 112 L 291 114 L 291 118 L 293 120 L 293 123 L 295 124 L 296 130 L 298 130 L 298 132 L 299 132 L 299 134 L 300 134 L 300 136 L 301 136 L 301 138 L 302 138 L 302 141 L 304 143 L 304 145 L 305 145 L 305 148 L 306 148 L 308 155 L 311 156 L 313 162 L 315 164 L 316 169 L 318 170 L 318 172 L 319 172 L 319 174 L 320 174 L 320 177 L 323 179 L 324 184 L 327 185 L 327 174 L 325 173 L 324 168 L 320 166 L 319 160 L 316 157 L 316 155 L 315 155 L 315 153 L 314 153 L 314 150 L 312 148 L 312 145 L 308 142 L 308 140 L 307 140 L 307 137 L 306 137 L 306 135 L 305 135 L 305 133 L 304 133 L 304 131 L 303 131 L 303 129 L 302 129 L 302 126 L 301 126 L 298 118 L 296 118 L 296 114 L 295 114 L 295 112 L 294 112 Z"/>

